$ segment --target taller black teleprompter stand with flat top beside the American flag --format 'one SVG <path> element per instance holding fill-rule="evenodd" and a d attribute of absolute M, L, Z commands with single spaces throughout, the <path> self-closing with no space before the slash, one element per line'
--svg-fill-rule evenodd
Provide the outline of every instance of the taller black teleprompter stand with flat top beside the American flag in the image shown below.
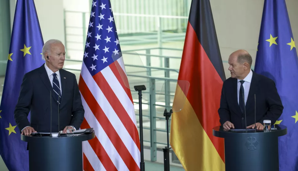
<path fill-rule="evenodd" d="M 143 113 L 142 113 L 142 91 L 146 90 L 145 85 L 134 86 L 135 91 L 139 91 L 139 120 L 140 120 L 140 146 L 141 146 L 141 162 L 140 170 L 145 171 L 144 163 L 144 147 L 143 147 Z"/>

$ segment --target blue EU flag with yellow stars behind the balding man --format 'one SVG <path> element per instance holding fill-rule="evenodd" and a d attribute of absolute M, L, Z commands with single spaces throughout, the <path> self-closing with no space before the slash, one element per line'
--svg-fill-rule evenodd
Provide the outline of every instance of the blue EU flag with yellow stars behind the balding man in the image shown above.
<path fill-rule="evenodd" d="M 284 0 L 265 0 L 258 43 L 255 72 L 274 80 L 284 106 L 272 124 L 288 128 L 278 138 L 279 168 L 298 170 L 298 58 Z"/>

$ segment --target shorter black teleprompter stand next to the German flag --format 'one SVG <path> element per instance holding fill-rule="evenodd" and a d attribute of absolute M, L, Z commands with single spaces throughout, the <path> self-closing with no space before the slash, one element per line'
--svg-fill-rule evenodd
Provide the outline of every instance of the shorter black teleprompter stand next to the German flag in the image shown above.
<path fill-rule="evenodd" d="M 172 109 L 170 109 L 170 112 L 168 112 L 167 109 L 165 109 L 163 112 L 163 116 L 165 116 L 167 120 L 167 147 L 163 148 L 164 171 L 170 171 L 169 118 L 171 117 L 172 113 Z"/>

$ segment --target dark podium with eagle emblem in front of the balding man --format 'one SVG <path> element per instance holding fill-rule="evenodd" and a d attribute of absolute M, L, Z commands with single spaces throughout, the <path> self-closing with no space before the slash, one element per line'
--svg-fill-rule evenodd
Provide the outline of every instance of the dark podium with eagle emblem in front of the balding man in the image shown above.
<path fill-rule="evenodd" d="M 224 131 L 213 128 L 213 135 L 225 139 L 226 171 L 278 171 L 278 137 L 287 134 L 287 127 L 276 125 L 271 132 Z"/>

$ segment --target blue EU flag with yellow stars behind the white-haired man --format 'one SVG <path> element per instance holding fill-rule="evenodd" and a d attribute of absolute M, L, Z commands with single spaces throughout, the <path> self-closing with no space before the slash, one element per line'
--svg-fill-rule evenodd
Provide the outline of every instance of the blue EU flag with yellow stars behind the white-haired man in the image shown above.
<path fill-rule="evenodd" d="M 0 154 L 10 171 L 29 170 L 27 143 L 14 120 L 23 76 L 40 67 L 43 39 L 33 0 L 18 0 L 0 105 Z"/>

